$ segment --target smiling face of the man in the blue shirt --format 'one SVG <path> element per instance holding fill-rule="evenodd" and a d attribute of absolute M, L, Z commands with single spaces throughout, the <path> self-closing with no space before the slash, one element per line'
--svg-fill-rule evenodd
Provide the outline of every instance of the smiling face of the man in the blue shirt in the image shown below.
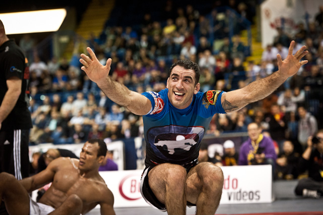
<path fill-rule="evenodd" d="M 198 93 L 200 84 L 196 83 L 195 72 L 191 69 L 184 69 L 181 66 L 173 68 L 167 80 L 168 98 L 177 109 L 187 108 Z"/>

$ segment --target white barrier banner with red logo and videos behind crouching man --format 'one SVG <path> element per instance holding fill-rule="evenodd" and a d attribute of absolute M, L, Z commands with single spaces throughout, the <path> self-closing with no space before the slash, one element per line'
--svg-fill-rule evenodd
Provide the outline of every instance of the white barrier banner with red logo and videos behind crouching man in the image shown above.
<path fill-rule="evenodd" d="M 272 166 L 222 167 L 221 204 L 269 203 L 272 198 Z M 140 194 L 142 170 L 100 172 L 115 197 L 114 207 L 149 206 Z"/>

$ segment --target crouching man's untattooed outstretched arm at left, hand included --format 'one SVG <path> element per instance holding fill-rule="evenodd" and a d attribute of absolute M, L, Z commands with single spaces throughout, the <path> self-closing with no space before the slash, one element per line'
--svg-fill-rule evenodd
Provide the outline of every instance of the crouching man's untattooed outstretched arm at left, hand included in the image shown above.
<path fill-rule="evenodd" d="M 125 85 L 120 84 L 109 77 L 111 69 L 111 59 L 106 61 L 103 66 L 97 60 L 91 48 L 87 47 L 90 54 L 88 56 L 81 54 L 80 62 L 83 64 L 81 69 L 86 73 L 90 80 L 95 82 L 98 87 L 114 102 L 126 107 L 136 115 L 145 115 L 151 109 L 151 102 L 145 96 L 129 90 Z"/>

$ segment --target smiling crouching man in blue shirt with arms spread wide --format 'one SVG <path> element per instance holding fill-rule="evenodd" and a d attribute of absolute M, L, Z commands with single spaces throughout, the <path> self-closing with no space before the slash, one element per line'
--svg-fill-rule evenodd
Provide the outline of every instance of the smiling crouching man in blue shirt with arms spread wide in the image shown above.
<path fill-rule="evenodd" d="M 198 164 L 200 142 L 216 113 L 230 113 L 270 95 L 307 61 L 306 46 L 295 55 L 292 41 L 288 57 L 277 55 L 279 70 L 246 87 L 230 92 L 199 92 L 197 64 L 178 61 L 170 69 L 167 89 L 139 94 L 112 80 L 111 59 L 103 66 L 88 47 L 90 57 L 81 54 L 82 70 L 114 102 L 136 115 L 143 115 L 146 141 L 146 168 L 141 194 L 153 207 L 168 214 L 184 215 L 186 205 L 196 205 L 196 214 L 214 214 L 223 187 L 221 169 L 211 163 Z"/>

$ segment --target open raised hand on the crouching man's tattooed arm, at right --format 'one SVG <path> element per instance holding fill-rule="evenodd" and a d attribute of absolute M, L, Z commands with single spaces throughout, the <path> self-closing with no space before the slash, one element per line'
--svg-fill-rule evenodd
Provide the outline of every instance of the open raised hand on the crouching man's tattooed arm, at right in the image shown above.
<path fill-rule="evenodd" d="M 299 68 L 307 64 L 307 60 L 300 61 L 307 53 L 308 51 L 306 49 L 306 46 L 302 46 L 296 53 L 293 55 L 293 49 L 294 49 L 295 41 L 293 40 L 291 44 L 289 45 L 288 49 L 288 56 L 287 58 L 282 61 L 282 57 L 280 54 L 277 54 L 277 61 L 278 61 L 278 68 L 280 73 L 283 76 L 291 77 L 297 73 Z"/>

